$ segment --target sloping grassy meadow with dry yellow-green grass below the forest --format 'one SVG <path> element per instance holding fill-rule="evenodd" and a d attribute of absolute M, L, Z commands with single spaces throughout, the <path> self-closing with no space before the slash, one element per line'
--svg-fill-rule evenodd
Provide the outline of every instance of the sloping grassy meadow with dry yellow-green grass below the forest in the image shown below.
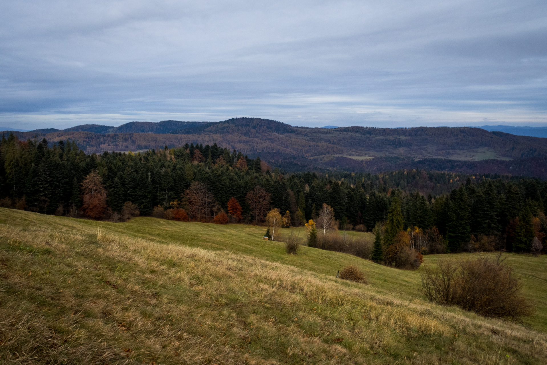
<path fill-rule="evenodd" d="M 287 255 L 264 231 L 0 208 L 0 362 L 547 363 L 544 256 L 508 255 L 537 308 L 519 324 L 427 302 L 420 270 Z M 369 285 L 335 278 L 350 264 Z"/>

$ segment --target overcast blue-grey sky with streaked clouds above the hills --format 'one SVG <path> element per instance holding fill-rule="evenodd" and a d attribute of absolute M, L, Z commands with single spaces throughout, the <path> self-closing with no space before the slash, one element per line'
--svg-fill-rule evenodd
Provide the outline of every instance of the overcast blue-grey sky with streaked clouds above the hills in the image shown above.
<path fill-rule="evenodd" d="M 547 2 L 0 2 L 0 128 L 547 125 Z"/>

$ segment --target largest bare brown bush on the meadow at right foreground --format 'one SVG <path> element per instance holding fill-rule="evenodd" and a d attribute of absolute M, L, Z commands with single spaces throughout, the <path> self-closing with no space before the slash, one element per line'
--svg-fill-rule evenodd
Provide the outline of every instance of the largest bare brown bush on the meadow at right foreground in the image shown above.
<path fill-rule="evenodd" d="M 461 262 L 439 259 L 437 268 L 425 269 L 422 287 L 432 302 L 457 305 L 485 317 L 520 320 L 532 315 L 533 308 L 512 271 L 501 256 Z"/>

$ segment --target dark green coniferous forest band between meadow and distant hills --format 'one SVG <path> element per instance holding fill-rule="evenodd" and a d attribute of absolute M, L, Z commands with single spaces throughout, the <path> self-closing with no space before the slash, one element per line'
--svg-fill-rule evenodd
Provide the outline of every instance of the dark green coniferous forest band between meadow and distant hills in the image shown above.
<path fill-rule="evenodd" d="M 49 147 L 3 136 L 0 199 L 3 207 L 110 221 L 161 212 L 260 224 L 278 208 L 284 224 L 296 226 L 316 219 L 326 204 L 340 229 L 371 231 L 380 223 L 384 241 L 406 231 L 413 247 L 429 242 L 425 253 L 547 246 L 547 182 L 536 178 L 424 170 L 286 174 L 216 143 L 85 154 L 74 141 Z"/>

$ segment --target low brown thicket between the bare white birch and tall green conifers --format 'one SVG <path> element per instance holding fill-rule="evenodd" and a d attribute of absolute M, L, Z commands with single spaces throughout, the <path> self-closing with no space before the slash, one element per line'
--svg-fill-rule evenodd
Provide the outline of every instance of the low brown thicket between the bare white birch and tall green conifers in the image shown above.
<path fill-rule="evenodd" d="M 349 253 L 364 259 L 370 259 L 373 252 L 373 240 L 368 236 L 341 236 L 336 232 L 317 235 L 317 248 L 323 250 Z"/>

